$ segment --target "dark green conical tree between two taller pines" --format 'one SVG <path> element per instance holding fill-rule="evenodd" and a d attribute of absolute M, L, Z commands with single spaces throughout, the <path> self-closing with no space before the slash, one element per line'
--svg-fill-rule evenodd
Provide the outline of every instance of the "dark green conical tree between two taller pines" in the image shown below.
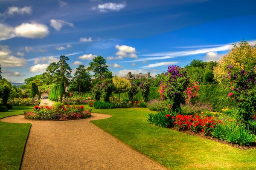
<path fill-rule="evenodd" d="M 84 65 L 79 65 L 73 77 L 73 86 L 76 85 L 79 92 L 89 91 L 91 87 L 91 76 Z"/>

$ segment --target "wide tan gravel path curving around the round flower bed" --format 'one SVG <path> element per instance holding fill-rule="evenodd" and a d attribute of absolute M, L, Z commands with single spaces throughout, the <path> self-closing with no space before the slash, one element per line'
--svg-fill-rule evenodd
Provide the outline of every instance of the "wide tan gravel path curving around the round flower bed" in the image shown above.
<path fill-rule="evenodd" d="M 166 170 L 90 122 L 109 117 L 36 121 L 19 115 L 0 121 L 32 124 L 21 170 Z"/>

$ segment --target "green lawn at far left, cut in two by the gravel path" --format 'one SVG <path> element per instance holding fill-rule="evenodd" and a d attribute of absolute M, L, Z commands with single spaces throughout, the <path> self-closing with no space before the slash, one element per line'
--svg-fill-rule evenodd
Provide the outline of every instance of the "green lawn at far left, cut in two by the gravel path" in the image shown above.
<path fill-rule="evenodd" d="M 14 106 L 8 112 L 0 112 L 0 119 L 23 114 L 33 106 Z M 0 122 L 0 170 L 19 170 L 29 134 L 30 124 Z"/>

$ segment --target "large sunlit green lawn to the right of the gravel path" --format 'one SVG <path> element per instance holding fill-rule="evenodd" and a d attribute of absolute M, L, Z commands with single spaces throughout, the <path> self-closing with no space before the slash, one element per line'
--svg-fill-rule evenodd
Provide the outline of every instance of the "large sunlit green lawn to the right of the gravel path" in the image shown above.
<path fill-rule="evenodd" d="M 92 122 L 169 169 L 256 169 L 256 149 L 240 150 L 150 125 L 149 112 L 147 108 L 93 109 L 113 117 Z"/>

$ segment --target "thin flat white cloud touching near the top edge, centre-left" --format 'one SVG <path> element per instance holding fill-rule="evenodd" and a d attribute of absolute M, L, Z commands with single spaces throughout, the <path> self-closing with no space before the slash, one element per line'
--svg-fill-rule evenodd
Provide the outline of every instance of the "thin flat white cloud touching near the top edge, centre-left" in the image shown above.
<path fill-rule="evenodd" d="M 122 8 L 126 7 L 126 3 L 103 3 L 99 4 L 98 6 L 94 6 L 93 9 L 99 9 L 100 12 L 107 12 L 107 11 L 120 11 Z"/>

